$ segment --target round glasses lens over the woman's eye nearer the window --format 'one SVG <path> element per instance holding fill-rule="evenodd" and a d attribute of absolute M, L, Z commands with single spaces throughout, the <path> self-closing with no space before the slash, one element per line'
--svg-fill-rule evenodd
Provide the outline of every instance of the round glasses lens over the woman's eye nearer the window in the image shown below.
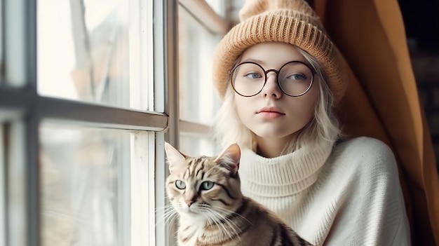
<path fill-rule="evenodd" d="M 253 63 L 241 63 L 231 74 L 231 85 L 236 93 L 250 97 L 262 90 L 265 73 L 262 67 Z"/>

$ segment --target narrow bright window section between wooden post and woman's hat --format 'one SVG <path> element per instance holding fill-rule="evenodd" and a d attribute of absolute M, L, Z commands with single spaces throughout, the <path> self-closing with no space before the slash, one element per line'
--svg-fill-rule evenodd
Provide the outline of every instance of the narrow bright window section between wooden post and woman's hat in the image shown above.
<path fill-rule="evenodd" d="M 214 48 L 227 32 L 224 10 L 224 1 L 180 1 L 178 8 L 180 150 L 189 155 L 218 151 L 208 126 L 220 104 L 211 64 Z"/>

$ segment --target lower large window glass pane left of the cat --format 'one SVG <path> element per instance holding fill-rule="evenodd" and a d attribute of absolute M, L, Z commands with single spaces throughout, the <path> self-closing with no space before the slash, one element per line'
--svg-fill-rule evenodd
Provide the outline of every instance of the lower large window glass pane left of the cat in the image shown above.
<path fill-rule="evenodd" d="M 41 125 L 42 245 L 130 245 L 132 134 Z"/>

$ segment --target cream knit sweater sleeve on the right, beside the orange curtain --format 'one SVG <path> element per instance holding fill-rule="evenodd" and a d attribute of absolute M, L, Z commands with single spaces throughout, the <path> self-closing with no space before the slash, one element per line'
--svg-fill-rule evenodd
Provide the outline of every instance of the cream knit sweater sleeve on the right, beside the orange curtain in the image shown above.
<path fill-rule="evenodd" d="M 343 148 L 333 163 L 343 166 L 344 196 L 323 245 L 410 245 L 410 230 L 391 149 L 361 137 Z M 339 159 L 337 159 L 339 158 Z"/>

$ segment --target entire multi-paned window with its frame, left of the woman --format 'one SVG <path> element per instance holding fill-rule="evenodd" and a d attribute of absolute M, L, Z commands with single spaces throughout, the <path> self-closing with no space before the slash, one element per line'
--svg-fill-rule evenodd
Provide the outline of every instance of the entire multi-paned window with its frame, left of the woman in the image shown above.
<path fill-rule="evenodd" d="M 0 1 L 0 246 L 174 245 L 163 143 L 217 152 L 226 2 Z"/>

